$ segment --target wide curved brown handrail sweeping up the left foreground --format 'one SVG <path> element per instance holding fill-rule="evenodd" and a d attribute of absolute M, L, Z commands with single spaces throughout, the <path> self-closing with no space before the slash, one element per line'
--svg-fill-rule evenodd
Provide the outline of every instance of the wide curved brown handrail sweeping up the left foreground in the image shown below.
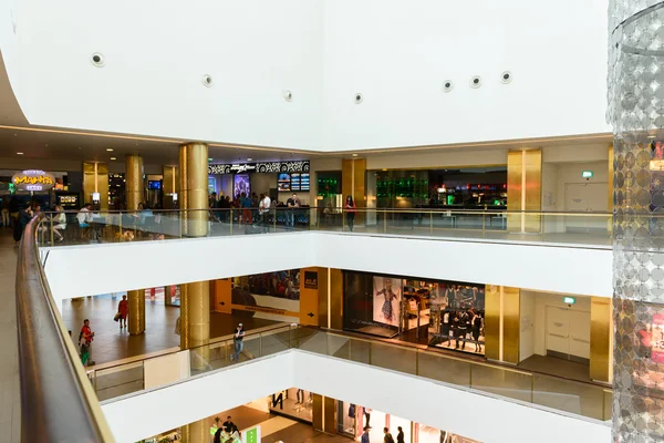
<path fill-rule="evenodd" d="M 113 442 L 39 259 L 42 217 L 25 227 L 17 266 L 21 441 Z"/>

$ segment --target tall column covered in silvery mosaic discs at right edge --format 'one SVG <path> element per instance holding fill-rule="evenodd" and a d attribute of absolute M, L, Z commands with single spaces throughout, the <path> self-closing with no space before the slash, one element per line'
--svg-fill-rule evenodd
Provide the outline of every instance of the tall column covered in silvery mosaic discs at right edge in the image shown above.
<path fill-rule="evenodd" d="M 613 441 L 664 440 L 664 1 L 611 0 Z"/>

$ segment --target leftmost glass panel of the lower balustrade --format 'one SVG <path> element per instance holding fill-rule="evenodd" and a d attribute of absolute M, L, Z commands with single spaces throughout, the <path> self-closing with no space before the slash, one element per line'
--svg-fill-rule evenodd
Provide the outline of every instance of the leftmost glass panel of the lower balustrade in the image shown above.
<path fill-rule="evenodd" d="M 101 369 L 91 374 L 100 401 L 138 392 L 144 389 L 143 362 Z"/>

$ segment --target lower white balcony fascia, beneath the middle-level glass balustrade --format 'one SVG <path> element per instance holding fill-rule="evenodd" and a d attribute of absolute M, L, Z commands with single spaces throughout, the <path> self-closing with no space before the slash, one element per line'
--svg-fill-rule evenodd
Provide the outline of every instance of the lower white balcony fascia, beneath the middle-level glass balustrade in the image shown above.
<path fill-rule="evenodd" d="M 611 433 L 593 420 L 299 350 L 121 398 L 102 410 L 116 440 L 129 442 L 293 387 L 488 443 L 559 443 L 570 436 L 600 443 Z M 443 414 L 443 404 L 458 408 L 445 408 Z"/>

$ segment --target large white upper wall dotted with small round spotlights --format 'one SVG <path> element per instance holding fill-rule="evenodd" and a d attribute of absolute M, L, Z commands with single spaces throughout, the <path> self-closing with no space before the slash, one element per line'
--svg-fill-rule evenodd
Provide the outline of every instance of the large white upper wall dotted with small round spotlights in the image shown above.
<path fill-rule="evenodd" d="M 0 6 L 32 124 L 317 151 L 610 131 L 605 0 L 68 4 Z"/>

